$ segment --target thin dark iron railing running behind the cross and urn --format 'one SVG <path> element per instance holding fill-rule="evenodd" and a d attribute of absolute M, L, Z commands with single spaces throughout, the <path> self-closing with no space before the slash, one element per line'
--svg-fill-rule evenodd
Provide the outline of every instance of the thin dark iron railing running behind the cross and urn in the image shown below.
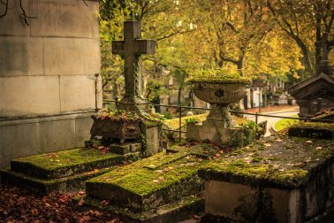
<path fill-rule="evenodd" d="M 117 104 L 118 101 L 116 100 L 103 100 L 103 104 L 110 104 L 115 103 Z M 183 106 L 183 105 L 170 105 L 170 104 L 149 104 L 152 106 L 159 106 L 159 107 L 168 107 L 168 108 L 177 108 L 178 109 L 178 130 L 175 129 L 167 129 L 163 128 L 163 131 L 168 132 L 178 132 L 178 142 L 181 142 L 181 135 L 186 134 L 186 131 L 182 130 L 182 109 L 190 109 L 190 110 L 201 110 L 201 111 L 210 111 L 211 108 L 201 108 L 201 107 L 193 107 L 193 106 Z M 287 116 L 279 116 L 279 115 L 271 115 L 271 114 L 262 114 L 259 112 L 246 112 L 246 111 L 234 111 L 230 110 L 231 113 L 235 114 L 245 114 L 245 115 L 252 115 L 255 118 L 255 123 L 258 124 L 259 117 L 269 117 L 269 118 L 278 118 L 278 119 L 297 119 L 302 121 L 312 121 L 312 122 L 325 122 L 325 123 L 332 123 L 334 120 L 331 119 L 307 119 L 307 118 L 296 118 L 296 117 L 287 117 Z"/>

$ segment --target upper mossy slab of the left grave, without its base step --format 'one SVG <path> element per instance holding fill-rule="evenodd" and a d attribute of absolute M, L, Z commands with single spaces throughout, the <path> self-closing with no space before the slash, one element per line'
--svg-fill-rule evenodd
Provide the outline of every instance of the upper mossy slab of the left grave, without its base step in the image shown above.
<path fill-rule="evenodd" d="M 122 164 L 129 157 L 131 155 L 126 157 L 87 148 L 62 150 L 27 158 L 16 158 L 11 161 L 11 171 L 42 180 L 52 180 Z"/>

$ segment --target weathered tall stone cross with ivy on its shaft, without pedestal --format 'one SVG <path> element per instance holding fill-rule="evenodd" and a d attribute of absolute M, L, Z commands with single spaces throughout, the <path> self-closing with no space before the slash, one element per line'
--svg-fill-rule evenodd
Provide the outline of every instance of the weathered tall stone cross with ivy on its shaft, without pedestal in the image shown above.
<path fill-rule="evenodd" d="M 140 104 L 147 104 L 141 96 L 140 55 L 154 54 L 156 41 L 140 38 L 140 21 L 125 21 L 124 41 L 112 42 L 112 53 L 125 59 L 125 96 L 118 103 L 118 109 L 137 111 Z"/>

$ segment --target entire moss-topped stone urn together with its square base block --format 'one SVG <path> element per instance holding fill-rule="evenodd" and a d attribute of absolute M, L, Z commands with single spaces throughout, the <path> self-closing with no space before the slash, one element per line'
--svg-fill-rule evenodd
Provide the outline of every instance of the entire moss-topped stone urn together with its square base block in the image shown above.
<path fill-rule="evenodd" d="M 232 138 L 242 138 L 242 133 L 240 129 L 233 128 L 235 122 L 228 105 L 239 102 L 245 96 L 246 85 L 250 80 L 241 77 L 239 73 L 216 69 L 191 73 L 187 81 L 194 84 L 195 96 L 212 107 L 207 120 L 188 127 L 187 138 L 216 143 L 238 142 L 238 139 Z"/>

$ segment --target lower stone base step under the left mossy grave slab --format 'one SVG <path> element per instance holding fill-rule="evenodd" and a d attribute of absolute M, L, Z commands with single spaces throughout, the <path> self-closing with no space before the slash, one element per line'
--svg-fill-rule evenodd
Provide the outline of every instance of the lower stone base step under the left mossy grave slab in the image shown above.
<path fill-rule="evenodd" d="M 107 173 L 110 168 L 95 170 L 88 173 L 80 173 L 70 177 L 63 177 L 53 180 L 41 180 L 24 173 L 11 170 L 0 170 L 0 183 L 11 184 L 14 186 L 30 188 L 41 194 L 49 194 L 53 191 L 72 192 L 85 189 L 85 181 Z"/>

